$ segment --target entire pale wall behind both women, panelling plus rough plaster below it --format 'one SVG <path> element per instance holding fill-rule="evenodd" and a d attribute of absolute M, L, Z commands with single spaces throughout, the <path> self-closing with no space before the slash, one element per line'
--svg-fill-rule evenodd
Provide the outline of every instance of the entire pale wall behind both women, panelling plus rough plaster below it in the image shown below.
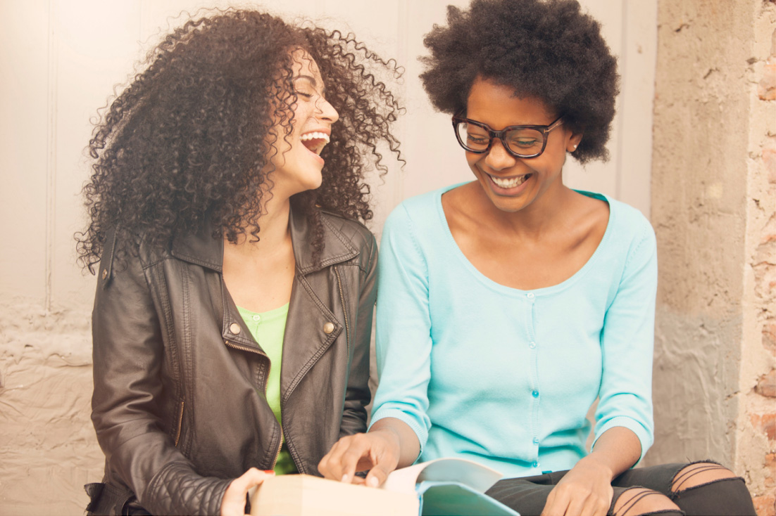
<path fill-rule="evenodd" d="M 182 10 L 203 0 L 0 1 L 0 514 L 83 514 L 83 484 L 102 477 L 102 452 L 89 421 L 89 317 L 95 279 L 75 263 L 83 228 L 82 154 L 97 108 L 114 84 Z M 265 0 L 286 18 L 303 13 L 352 29 L 406 69 L 395 89 L 407 113 L 399 134 L 407 167 L 372 181 L 378 233 L 402 199 L 469 181 L 449 117 L 433 111 L 416 57 L 422 35 L 445 21 L 445 5 L 468 0 Z M 656 0 L 583 0 L 618 54 L 622 94 L 611 161 L 564 180 L 650 212 L 650 153 Z M 245 4 L 256 7 L 255 4 Z M 120 88 L 120 87 L 119 87 Z"/>

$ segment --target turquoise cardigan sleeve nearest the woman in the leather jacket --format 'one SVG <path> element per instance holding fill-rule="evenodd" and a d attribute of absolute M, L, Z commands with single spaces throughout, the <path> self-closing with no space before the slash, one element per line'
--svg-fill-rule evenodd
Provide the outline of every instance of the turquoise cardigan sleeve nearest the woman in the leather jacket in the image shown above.
<path fill-rule="evenodd" d="M 407 209 L 387 218 L 379 260 L 376 356 L 379 385 L 372 424 L 404 421 L 421 450 L 428 439 L 428 382 L 431 377 L 431 317 L 428 267 Z"/>

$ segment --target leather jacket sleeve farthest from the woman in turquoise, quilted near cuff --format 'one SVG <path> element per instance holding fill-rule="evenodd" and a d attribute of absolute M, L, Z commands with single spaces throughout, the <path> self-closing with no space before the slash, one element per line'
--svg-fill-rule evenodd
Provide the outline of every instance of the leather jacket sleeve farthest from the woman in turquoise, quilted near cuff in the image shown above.
<path fill-rule="evenodd" d="M 199 476 L 161 425 L 161 324 L 137 256 L 114 270 L 113 238 L 92 312 L 92 422 L 109 480 L 152 514 L 219 514 L 230 480 Z"/>

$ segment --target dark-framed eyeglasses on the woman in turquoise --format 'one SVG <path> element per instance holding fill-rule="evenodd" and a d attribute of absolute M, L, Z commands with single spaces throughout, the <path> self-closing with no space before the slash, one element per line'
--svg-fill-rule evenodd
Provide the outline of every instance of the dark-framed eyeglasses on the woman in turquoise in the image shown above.
<path fill-rule="evenodd" d="M 528 158 L 544 152 L 547 135 L 563 124 L 562 118 L 563 115 L 560 115 L 549 126 L 508 126 L 501 131 L 494 131 L 482 122 L 454 116 L 452 127 L 456 130 L 458 143 L 470 153 L 487 153 L 493 145 L 493 139 L 498 138 L 512 156 Z"/>

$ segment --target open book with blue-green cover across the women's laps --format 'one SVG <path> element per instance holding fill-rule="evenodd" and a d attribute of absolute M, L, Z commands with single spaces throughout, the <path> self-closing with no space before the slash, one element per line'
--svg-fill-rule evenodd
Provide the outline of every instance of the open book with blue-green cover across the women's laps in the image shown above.
<path fill-rule="evenodd" d="M 281 475 L 251 496 L 251 516 L 518 516 L 484 492 L 501 473 L 467 459 L 435 459 L 393 471 L 382 487 Z"/>

